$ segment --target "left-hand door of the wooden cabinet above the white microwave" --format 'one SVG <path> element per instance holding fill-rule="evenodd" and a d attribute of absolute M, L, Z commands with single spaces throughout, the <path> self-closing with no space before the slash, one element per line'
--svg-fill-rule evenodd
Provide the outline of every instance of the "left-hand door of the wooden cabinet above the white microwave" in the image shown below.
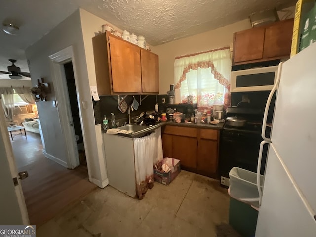
<path fill-rule="evenodd" d="M 258 60 L 263 55 L 265 28 L 253 28 L 234 34 L 233 62 Z"/>

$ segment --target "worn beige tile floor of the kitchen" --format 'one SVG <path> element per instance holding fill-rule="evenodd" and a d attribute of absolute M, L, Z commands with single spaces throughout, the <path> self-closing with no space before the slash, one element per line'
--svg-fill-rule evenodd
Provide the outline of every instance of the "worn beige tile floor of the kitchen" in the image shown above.
<path fill-rule="evenodd" d="M 143 200 L 107 186 L 37 229 L 37 237 L 215 237 L 228 223 L 229 196 L 219 181 L 181 171 Z"/>

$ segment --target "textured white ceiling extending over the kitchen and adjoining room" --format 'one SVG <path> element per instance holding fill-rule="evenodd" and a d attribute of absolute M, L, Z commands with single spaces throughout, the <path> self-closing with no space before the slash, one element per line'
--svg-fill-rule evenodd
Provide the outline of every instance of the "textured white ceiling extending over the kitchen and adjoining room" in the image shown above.
<path fill-rule="evenodd" d="M 24 50 L 79 7 L 155 46 L 245 19 L 249 14 L 294 5 L 296 0 L 1 0 L 1 23 L 13 20 L 18 36 L 0 32 L 0 70 L 9 58 L 28 71 Z M 7 75 L 0 75 L 7 78 Z"/>

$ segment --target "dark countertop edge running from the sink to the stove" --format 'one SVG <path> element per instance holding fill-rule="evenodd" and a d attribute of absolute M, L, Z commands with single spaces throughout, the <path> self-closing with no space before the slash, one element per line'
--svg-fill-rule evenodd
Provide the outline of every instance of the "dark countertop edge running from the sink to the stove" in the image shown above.
<path fill-rule="evenodd" d="M 160 122 L 154 126 L 148 127 L 147 129 L 144 129 L 144 131 L 139 131 L 136 133 L 130 133 L 130 134 L 123 134 L 123 133 L 118 133 L 115 135 L 118 136 L 123 136 L 123 137 L 129 137 L 129 138 L 137 138 L 137 137 L 143 137 L 146 134 L 150 134 L 152 133 L 154 130 L 156 130 L 159 127 L 163 127 L 163 126 L 178 126 L 178 127 L 193 127 L 193 128 L 203 128 L 203 129 L 216 129 L 216 130 L 220 130 L 223 128 L 224 123 L 218 123 L 217 125 L 211 125 L 211 124 L 194 124 L 194 123 L 176 123 L 176 122 Z"/>

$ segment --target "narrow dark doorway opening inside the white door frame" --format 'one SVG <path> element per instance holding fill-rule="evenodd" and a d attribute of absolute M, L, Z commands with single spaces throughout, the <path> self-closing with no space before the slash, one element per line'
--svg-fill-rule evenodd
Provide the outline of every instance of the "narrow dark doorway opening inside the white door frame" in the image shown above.
<path fill-rule="evenodd" d="M 77 99 L 77 90 L 76 90 L 76 83 L 75 83 L 75 75 L 74 75 L 74 68 L 73 62 L 67 62 L 64 64 L 65 70 L 65 77 L 67 83 L 67 90 L 69 96 L 69 103 L 70 103 L 70 110 L 73 123 L 71 126 L 74 127 L 75 130 L 75 139 L 78 147 L 78 154 L 79 154 L 79 164 L 87 166 L 85 152 L 84 152 L 84 142 L 81 130 L 81 122 L 80 122 L 80 114 L 78 108 L 78 99 Z"/>

